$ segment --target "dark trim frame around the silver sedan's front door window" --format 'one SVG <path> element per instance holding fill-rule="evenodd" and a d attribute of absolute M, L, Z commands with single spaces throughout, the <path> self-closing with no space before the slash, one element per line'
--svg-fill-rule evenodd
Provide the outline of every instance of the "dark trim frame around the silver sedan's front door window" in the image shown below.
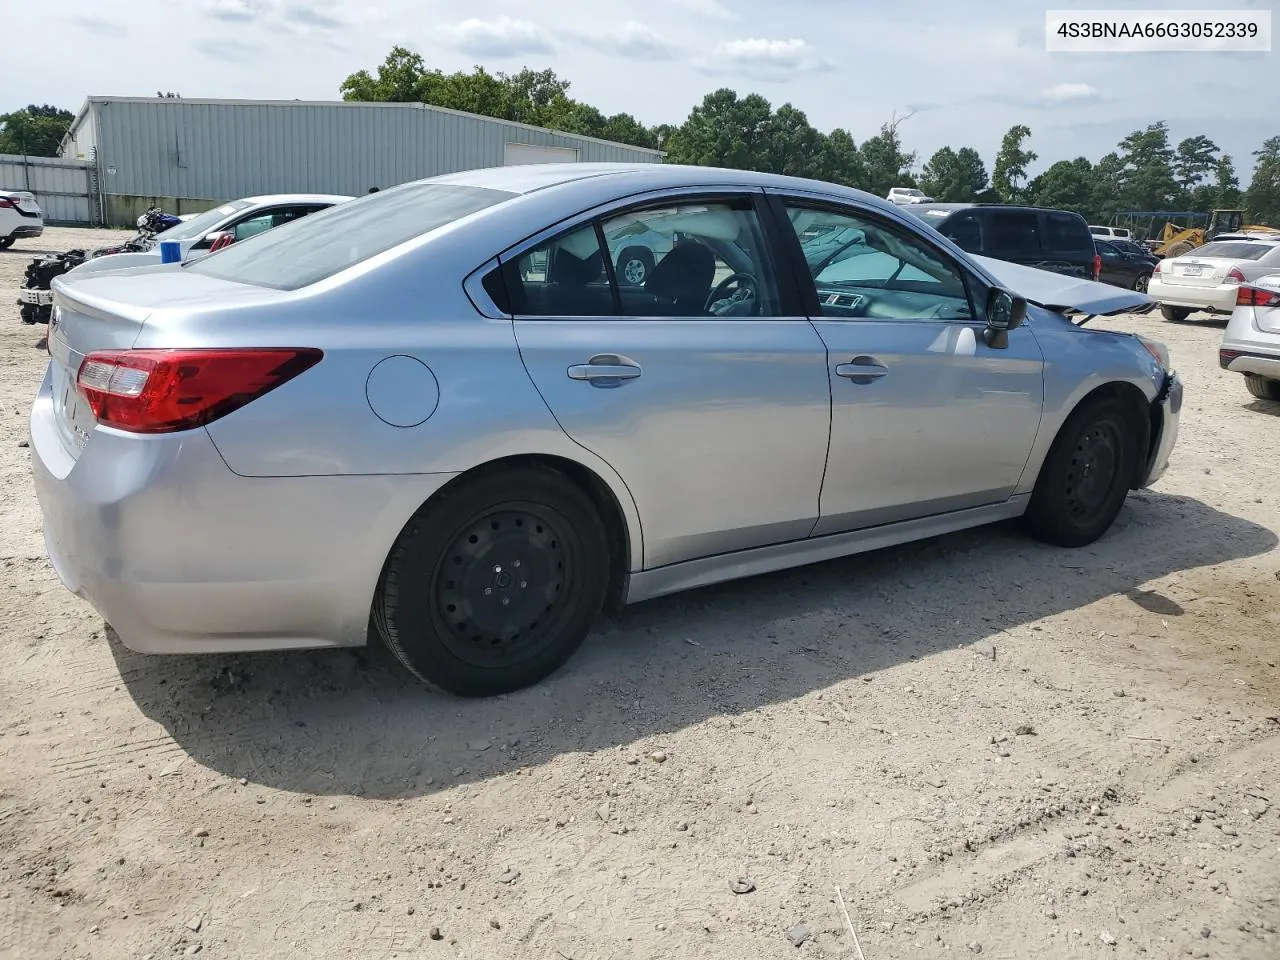
<path fill-rule="evenodd" d="M 856 201 L 849 201 L 840 197 L 831 197 L 823 193 L 805 193 L 803 191 L 780 191 L 780 189 L 767 189 L 765 196 L 769 201 L 769 209 L 772 218 L 783 232 L 782 242 L 786 247 L 787 259 L 791 264 L 792 282 L 797 283 L 800 289 L 800 297 L 804 302 L 804 307 L 808 311 L 808 316 L 812 321 L 833 321 L 833 323 L 904 323 L 904 324 L 968 324 L 974 326 L 987 325 L 987 297 L 986 293 L 992 288 L 991 282 L 987 278 L 977 274 L 969 264 L 964 262 L 956 257 L 950 250 L 936 243 L 931 237 L 925 236 L 914 227 L 900 223 L 892 218 L 884 216 L 882 212 L 874 207 L 861 206 Z M 876 227 L 883 229 L 906 234 L 913 241 L 922 243 L 933 251 L 941 260 L 951 265 L 951 268 L 960 275 L 960 282 L 965 288 L 965 297 L 969 301 L 969 319 L 943 319 L 943 317 L 864 317 L 864 316 L 824 316 L 822 312 L 822 305 L 818 302 L 818 287 L 814 283 L 813 275 L 809 273 L 809 264 L 804 259 L 804 248 L 800 246 L 800 238 L 796 236 L 795 229 L 791 227 L 791 220 L 787 216 L 787 205 L 794 206 L 808 206 L 815 207 L 818 210 L 824 210 L 833 214 L 842 214 L 845 216 L 854 216 L 864 219 Z M 941 234 L 940 234 L 941 236 Z M 977 297 L 975 289 L 982 291 L 984 296 Z"/>

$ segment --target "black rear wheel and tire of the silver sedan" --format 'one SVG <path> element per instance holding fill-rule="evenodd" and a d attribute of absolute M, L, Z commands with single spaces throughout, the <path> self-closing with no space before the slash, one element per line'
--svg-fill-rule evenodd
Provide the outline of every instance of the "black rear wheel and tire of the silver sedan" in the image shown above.
<path fill-rule="evenodd" d="M 595 504 L 554 470 L 481 474 L 422 507 L 374 600 L 387 646 L 429 686 L 494 696 L 554 673 L 604 605 Z"/>

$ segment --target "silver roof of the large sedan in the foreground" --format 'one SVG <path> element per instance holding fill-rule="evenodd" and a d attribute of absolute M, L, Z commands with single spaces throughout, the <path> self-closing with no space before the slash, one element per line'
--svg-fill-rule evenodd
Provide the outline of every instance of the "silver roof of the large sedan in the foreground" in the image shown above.
<path fill-rule="evenodd" d="M 431 177 L 419 183 L 454 183 L 465 187 L 484 187 L 511 193 L 532 193 L 575 182 L 603 178 L 626 178 L 627 188 L 635 192 L 648 189 L 678 189 L 682 187 L 745 187 L 795 189 L 846 196 L 865 206 L 897 212 L 900 206 L 861 189 L 842 187 L 824 180 L 783 177 L 755 170 L 731 170 L 719 166 L 686 166 L 681 164 L 525 164 L 515 166 L 488 166 Z"/>

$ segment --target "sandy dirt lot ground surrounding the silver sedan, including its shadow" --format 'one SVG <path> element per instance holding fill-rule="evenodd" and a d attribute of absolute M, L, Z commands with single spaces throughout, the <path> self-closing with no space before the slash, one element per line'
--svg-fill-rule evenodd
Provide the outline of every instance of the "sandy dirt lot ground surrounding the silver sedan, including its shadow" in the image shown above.
<path fill-rule="evenodd" d="M 1280 406 L 1221 324 L 1111 321 L 1188 399 L 1093 548 L 657 600 L 472 703 L 376 649 L 105 637 L 44 558 L 32 248 L 0 253 L 4 957 L 856 957 L 837 887 L 867 960 L 1280 956 Z"/>

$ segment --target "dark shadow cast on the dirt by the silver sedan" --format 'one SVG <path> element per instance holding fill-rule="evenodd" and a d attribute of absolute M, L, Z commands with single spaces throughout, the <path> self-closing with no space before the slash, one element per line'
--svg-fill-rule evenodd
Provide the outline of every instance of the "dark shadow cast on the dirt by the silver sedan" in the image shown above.
<path fill-rule="evenodd" d="M 113 640 L 111 650 L 140 709 L 206 767 L 303 794 L 406 797 L 573 751 L 652 750 L 709 717 L 995 643 L 1114 594 L 1179 616 L 1142 585 L 1276 543 L 1199 500 L 1146 490 L 1079 550 L 1002 525 L 637 604 L 554 677 L 488 700 L 426 691 L 380 646 L 147 657 Z"/>

